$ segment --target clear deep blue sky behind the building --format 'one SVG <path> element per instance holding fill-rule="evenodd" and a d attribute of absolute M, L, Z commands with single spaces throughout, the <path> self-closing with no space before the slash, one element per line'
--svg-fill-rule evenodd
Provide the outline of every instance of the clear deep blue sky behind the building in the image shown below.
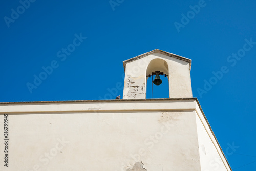
<path fill-rule="evenodd" d="M 192 59 L 193 97 L 231 168 L 255 170 L 255 1 L 13 0 L 0 8 L 0 102 L 105 99 L 123 84 L 122 61 L 161 49 Z M 117 95 L 122 89 L 109 98 Z"/>

